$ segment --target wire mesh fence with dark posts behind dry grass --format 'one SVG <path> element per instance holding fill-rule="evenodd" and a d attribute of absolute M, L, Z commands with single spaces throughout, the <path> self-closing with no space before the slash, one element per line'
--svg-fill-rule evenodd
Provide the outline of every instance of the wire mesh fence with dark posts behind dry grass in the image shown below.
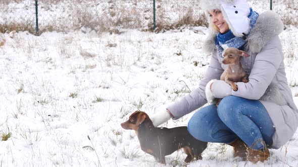
<path fill-rule="evenodd" d="M 90 29 L 117 33 L 121 28 L 149 31 L 154 28 L 154 1 L 158 30 L 208 25 L 197 0 L 2 0 L 0 32 L 40 34 Z M 247 2 L 259 13 L 270 10 L 270 0 Z M 272 8 L 284 25 L 298 27 L 298 1 L 273 1 Z"/>

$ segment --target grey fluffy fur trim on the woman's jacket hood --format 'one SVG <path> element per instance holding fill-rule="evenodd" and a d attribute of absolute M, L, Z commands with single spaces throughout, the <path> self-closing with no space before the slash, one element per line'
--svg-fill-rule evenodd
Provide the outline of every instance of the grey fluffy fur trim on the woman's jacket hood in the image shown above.
<path fill-rule="evenodd" d="M 259 15 L 254 28 L 245 39 L 245 50 L 252 53 L 258 53 L 274 36 L 279 35 L 283 31 L 283 23 L 280 17 L 272 12 L 266 11 Z M 215 49 L 215 38 L 218 32 L 209 29 L 209 34 L 203 43 L 203 51 L 212 53 Z"/>

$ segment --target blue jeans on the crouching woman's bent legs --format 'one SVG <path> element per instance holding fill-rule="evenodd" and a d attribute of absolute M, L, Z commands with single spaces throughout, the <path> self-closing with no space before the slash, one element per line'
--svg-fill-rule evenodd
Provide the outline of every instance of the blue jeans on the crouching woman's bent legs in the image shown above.
<path fill-rule="evenodd" d="M 231 143 L 240 138 L 252 149 L 272 145 L 275 127 L 258 100 L 236 96 L 222 99 L 218 108 L 209 105 L 198 110 L 188 122 L 189 133 L 198 140 Z"/>

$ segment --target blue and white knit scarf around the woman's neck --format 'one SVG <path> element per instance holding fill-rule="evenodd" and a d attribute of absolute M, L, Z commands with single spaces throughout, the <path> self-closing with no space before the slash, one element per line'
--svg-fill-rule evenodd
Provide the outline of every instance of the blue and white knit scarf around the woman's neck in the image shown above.
<path fill-rule="evenodd" d="M 251 19 L 250 30 L 249 30 L 248 34 L 245 34 L 245 37 L 251 33 L 251 30 L 255 26 L 256 21 L 259 17 L 259 14 L 255 11 L 253 11 L 252 8 L 250 10 L 251 10 L 251 12 L 250 12 L 250 15 L 248 16 L 248 18 Z M 226 45 L 227 47 L 234 47 L 239 50 L 243 50 L 244 45 L 246 43 L 245 37 L 244 38 L 236 37 L 236 36 L 234 36 L 234 34 L 232 33 L 231 30 L 229 30 L 228 32 L 226 32 L 224 34 L 218 33 L 218 35 L 215 38 L 215 45 L 216 45 L 216 49 L 217 49 L 218 53 L 220 54 L 220 56 L 223 56 L 222 55 L 222 52 L 224 50 L 223 45 Z"/>

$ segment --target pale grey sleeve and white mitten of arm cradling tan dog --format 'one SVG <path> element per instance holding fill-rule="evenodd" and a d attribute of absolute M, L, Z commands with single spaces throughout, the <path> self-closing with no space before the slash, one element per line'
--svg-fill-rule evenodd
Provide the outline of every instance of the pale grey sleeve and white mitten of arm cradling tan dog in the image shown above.
<path fill-rule="evenodd" d="M 249 82 L 237 82 L 238 91 L 235 92 L 225 81 L 216 80 L 212 85 L 212 93 L 216 98 L 233 95 L 245 99 L 259 100 L 276 75 L 282 61 L 281 43 L 278 36 L 276 36 L 257 54 L 249 76 Z"/>

